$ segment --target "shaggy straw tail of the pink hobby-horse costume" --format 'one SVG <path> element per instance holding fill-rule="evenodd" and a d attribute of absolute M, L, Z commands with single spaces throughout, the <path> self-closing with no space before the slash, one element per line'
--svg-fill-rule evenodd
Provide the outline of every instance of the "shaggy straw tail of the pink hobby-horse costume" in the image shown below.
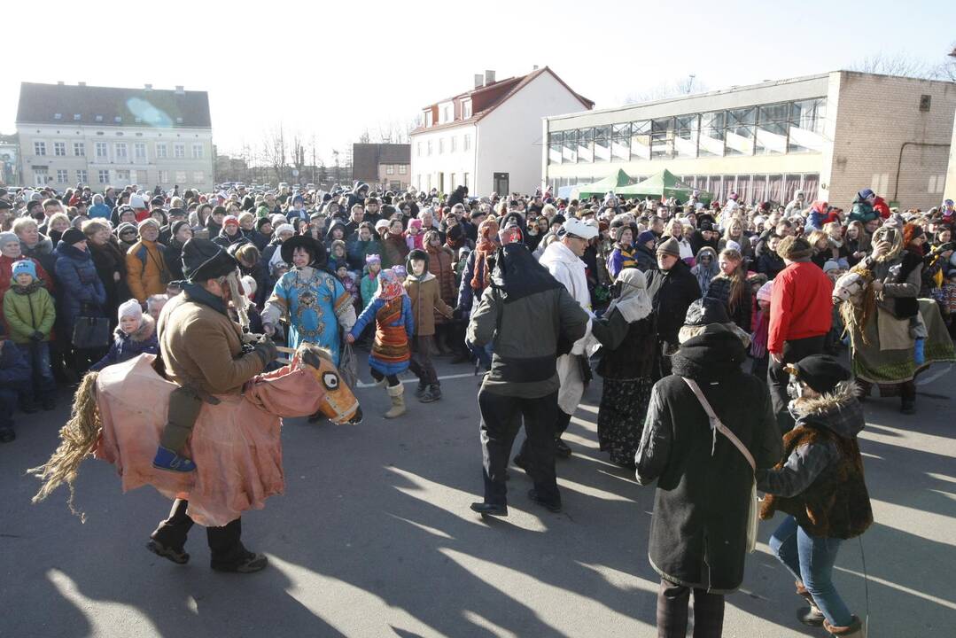
<path fill-rule="evenodd" d="M 70 420 L 60 428 L 60 444 L 50 460 L 37 468 L 27 470 L 27 473 L 33 474 L 43 483 L 39 492 L 33 496 L 33 503 L 44 500 L 61 484 L 66 483 L 70 488 L 70 498 L 67 501 L 70 511 L 83 522 L 86 522 L 86 517 L 73 506 L 73 482 L 76 480 L 79 464 L 87 455 L 93 453 L 103 429 L 97 408 L 97 377 L 98 372 L 87 372 L 76 388 Z"/>

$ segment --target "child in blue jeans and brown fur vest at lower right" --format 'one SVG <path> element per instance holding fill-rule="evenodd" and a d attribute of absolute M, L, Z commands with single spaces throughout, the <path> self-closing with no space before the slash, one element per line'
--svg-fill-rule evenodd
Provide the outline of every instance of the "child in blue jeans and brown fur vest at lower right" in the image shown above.
<path fill-rule="evenodd" d="M 767 493 L 760 517 L 787 515 L 770 546 L 810 604 L 797 612 L 799 621 L 822 625 L 832 636 L 862 638 L 862 623 L 836 591 L 833 570 L 842 542 L 873 523 L 857 441 L 863 408 L 849 370 L 833 357 L 811 355 L 787 371 L 796 423 L 784 436 L 783 460 L 756 473 L 757 489 Z"/>

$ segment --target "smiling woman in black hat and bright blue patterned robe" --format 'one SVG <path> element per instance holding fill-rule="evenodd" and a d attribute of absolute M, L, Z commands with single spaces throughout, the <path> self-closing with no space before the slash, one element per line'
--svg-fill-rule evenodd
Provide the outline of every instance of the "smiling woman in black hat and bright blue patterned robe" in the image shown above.
<path fill-rule="evenodd" d="M 289 321 L 289 347 L 303 341 L 332 353 L 338 365 L 341 325 L 346 332 L 356 322 L 356 310 L 341 282 L 324 270 L 325 247 L 309 235 L 295 235 L 280 247 L 282 260 L 293 269 L 282 275 L 262 311 L 267 335 L 275 332 L 279 319 Z"/>

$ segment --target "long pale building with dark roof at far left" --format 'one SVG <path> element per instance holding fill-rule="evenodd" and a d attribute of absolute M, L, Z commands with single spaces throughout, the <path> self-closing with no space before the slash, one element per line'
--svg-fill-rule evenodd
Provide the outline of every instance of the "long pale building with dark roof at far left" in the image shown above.
<path fill-rule="evenodd" d="M 213 187 L 205 91 L 23 82 L 16 130 L 24 186 Z"/>

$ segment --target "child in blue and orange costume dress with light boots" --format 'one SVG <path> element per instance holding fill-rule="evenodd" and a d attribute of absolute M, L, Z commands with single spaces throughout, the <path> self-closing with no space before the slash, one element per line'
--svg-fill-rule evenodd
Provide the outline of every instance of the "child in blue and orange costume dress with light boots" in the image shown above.
<path fill-rule="evenodd" d="M 378 386 L 387 386 L 392 407 L 383 415 L 394 419 L 405 413 L 404 386 L 399 375 L 408 369 L 411 351 L 408 342 L 415 336 L 412 304 L 402 286 L 402 278 L 393 271 L 379 274 L 379 292 L 365 307 L 345 339 L 355 343 L 362 330 L 375 319 L 375 341 L 368 356 L 372 378 Z"/>

